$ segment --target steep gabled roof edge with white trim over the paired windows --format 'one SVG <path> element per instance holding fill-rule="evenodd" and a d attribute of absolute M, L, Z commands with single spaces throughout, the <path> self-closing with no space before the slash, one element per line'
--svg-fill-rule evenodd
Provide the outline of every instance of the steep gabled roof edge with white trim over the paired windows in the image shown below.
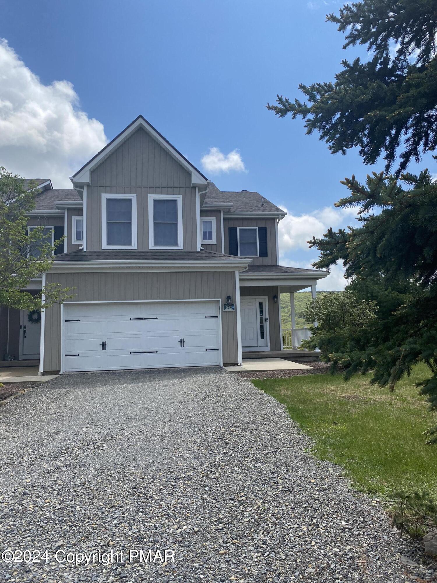
<path fill-rule="evenodd" d="M 70 177 L 70 180 L 73 184 L 76 182 L 77 184 L 88 184 L 89 183 L 89 174 L 90 170 L 96 167 L 101 161 L 108 156 L 108 153 L 111 152 L 114 148 L 120 145 L 125 139 L 132 134 L 132 132 L 136 131 L 139 127 L 142 127 L 146 130 L 157 142 L 161 144 L 179 163 L 182 164 L 191 173 L 192 183 L 193 184 L 207 184 L 207 178 L 196 168 L 186 157 L 179 152 L 156 128 L 151 125 L 145 117 L 139 115 L 135 120 L 133 120 L 123 131 L 121 131 L 118 136 L 115 136 L 107 145 L 100 150 L 93 156 L 91 160 L 87 161 L 86 164 L 77 170 L 73 176 Z"/>

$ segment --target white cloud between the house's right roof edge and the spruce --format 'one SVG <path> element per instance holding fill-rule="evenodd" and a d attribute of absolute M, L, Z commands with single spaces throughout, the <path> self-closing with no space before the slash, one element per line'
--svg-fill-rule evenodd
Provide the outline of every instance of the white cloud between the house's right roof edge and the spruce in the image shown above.
<path fill-rule="evenodd" d="M 279 205 L 282 209 L 284 205 Z M 291 250 L 303 249 L 308 251 L 308 241 L 313 236 L 322 237 L 329 227 L 338 229 L 343 227 L 347 219 L 357 216 L 355 209 L 336 209 L 326 206 L 312 213 L 287 216 L 279 222 L 278 236 L 281 255 Z"/>

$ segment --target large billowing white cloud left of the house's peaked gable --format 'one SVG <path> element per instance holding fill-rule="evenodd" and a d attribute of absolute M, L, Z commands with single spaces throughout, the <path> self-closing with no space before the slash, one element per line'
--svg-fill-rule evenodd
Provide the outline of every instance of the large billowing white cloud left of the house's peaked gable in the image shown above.
<path fill-rule="evenodd" d="M 68 177 L 105 144 L 103 124 L 79 108 L 73 85 L 44 85 L 0 38 L 0 165 L 25 178 Z"/>

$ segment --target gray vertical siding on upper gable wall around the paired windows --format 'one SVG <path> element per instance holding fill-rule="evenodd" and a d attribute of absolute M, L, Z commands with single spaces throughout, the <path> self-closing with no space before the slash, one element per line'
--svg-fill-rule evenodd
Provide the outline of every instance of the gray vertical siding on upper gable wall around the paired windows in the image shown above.
<path fill-rule="evenodd" d="M 196 188 L 191 174 L 139 128 L 95 170 L 87 187 L 87 250 L 101 249 L 101 195 L 136 194 L 138 249 L 149 249 L 149 194 L 182 195 L 184 249 L 197 249 Z"/>

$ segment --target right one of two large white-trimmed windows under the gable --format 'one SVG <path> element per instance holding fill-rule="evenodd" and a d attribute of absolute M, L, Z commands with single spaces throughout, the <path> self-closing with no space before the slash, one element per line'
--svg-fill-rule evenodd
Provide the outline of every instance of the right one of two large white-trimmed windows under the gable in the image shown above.
<path fill-rule="evenodd" d="M 181 195 L 149 195 L 149 248 L 184 248 Z"/>

